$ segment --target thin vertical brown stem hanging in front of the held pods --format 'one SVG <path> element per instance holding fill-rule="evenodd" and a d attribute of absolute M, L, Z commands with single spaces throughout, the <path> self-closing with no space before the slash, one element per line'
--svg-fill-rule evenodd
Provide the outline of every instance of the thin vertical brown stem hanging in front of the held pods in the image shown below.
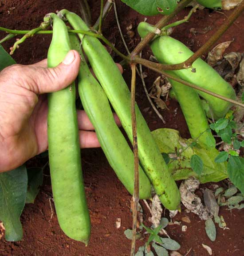
<path fill-rule="evenodd" d="M 135 113 L 135 87 L 136 87 L 136 65 L 131 64 L 131 122 L 132 122 L 132 133 L 133 133 L 133 151 L 134 151 L 134 193 L 133 193 L 133 236 L 131 241 L 130 256 L 135 255 L 135 244 L 136 244 L 136 229 L 137 229 L 137 208 L 139 202 L 139 160 L 138 160 L 138 143 L 137 143 L 137 127 L 136 127 L 136 113 Z"/>

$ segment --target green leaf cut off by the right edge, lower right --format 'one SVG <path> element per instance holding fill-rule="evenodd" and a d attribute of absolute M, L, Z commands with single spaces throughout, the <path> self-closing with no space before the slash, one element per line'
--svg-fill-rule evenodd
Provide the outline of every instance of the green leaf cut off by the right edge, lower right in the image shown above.
<path fill-rule="evenodd" d="M 239 156 L 230 156 L 227 172 L 232 183 L 244 194 L 244 159 Z"/>

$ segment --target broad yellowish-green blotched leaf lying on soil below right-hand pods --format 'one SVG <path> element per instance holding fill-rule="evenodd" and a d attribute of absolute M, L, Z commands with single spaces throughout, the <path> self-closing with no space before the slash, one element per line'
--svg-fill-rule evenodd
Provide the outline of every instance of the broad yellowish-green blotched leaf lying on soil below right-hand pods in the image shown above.
<path fill-rule="evenodd" d="M 152 132 L 153 138 L 157 143 L 160 152 L 176 153 L 179 150 L 184 150 L 178 157 L 178 160 L 170 161 L 168 164 L 174 180 L 185 180 L 191 176 L 199 179 L 201 183 L 218 182 L 228 177 L 227 163 L 215 163 L 216 156 L 219 151 L 216 148 L 206 149 L 205 145 L 197 144 L 196 147 L 189 147 L 194 140 L 182 139 L 179 132 L 173 129 L 160 128 Z M 188 148 L 186 148 L 188 147 Z M 196 154 L 201 157 L 203 161 L 203 171 L 201 176 L 198 176 L 191 168 L 190 159 Z"/>

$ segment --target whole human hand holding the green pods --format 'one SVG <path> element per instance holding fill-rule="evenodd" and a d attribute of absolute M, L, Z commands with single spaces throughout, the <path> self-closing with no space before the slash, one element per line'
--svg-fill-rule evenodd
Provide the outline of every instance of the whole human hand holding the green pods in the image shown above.
<path fill-rule="evenodd" d="M 47 150 L 46 93 L 71 84 L 79 63 L 79 53 L 72 50 L 56 68 L 47 68 L 47 60 L 43 60 L 28 66 L 12 65 L 0 72 L 0 172 Z M 86 113 L 78 111 L 77 115 L 81 148 L 99 147 Z M 119 123 L 118 117 L 114 118 Z"/>

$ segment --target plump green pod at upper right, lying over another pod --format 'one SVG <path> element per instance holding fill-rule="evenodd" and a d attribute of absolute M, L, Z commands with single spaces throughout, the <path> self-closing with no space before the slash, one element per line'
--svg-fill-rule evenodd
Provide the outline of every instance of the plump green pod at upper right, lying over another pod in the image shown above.
<path fill-rule="evenodd" d="M 141 36 L 145 35 L 146 22 L 141 22 L 138 25 L 138 32 Z M 150 26 L 150 25 L 149 25 Z M 141 33 L 142 31 L 142 33 Z M 193 52 L 182 44 L 180 41 L 170 37 L 170 36 L 159 36 L 153 40 L 151 44 L 153 54 L 157 60 L 162 64 L 177 64 L 184 62 Z M 207 64 L 201 58 L 198 58 L 193 63 L 193 68 L 196 72 L 192 72 L 191 68 L 173 70 L 172 73 L 177 75 L 183 80 L 190 83 L 196 84 L 201 88 L 205 88 L 211 92 L 218 93 L 222 96 L 236 99 L 236 93 L 232 86 L 228 84 L 209 64 Z M 214 96 L 211 96 L 205 92 L 197 91 L 197 93 L 208 101 L 210 108 L 213 110 L 213 115 L 216 119 L 224 117 L 228 112 L 232 104 L 220 100 Z"/>

